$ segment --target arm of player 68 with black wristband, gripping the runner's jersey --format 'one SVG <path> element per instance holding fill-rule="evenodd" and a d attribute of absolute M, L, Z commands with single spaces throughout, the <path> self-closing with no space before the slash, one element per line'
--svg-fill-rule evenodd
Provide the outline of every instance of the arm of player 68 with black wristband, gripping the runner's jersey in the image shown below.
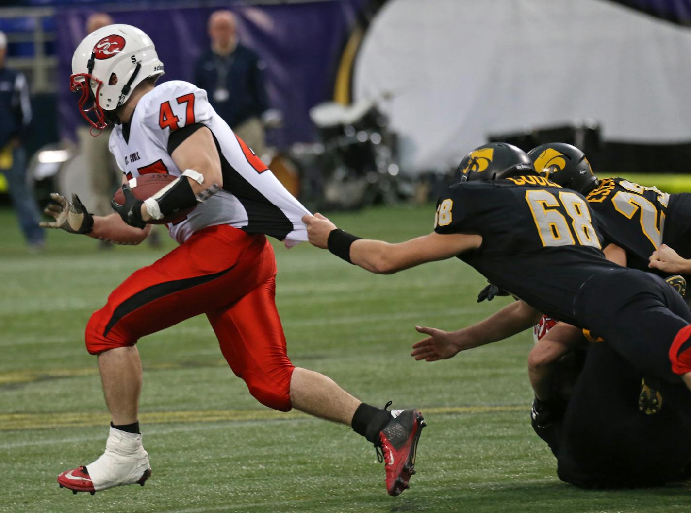
<path fill-rule="evenodd" d="M 377 274 L 415 267 L 421 263 L 450 259 L 462 252 L 479 248 L 480 235 L 430 233 L 410 241 L 390 244 L 384 241 L 359 239 L 343 230 L 321 214 L 303 216 L 310 243 L 328 249 L 345 261 Z"/>

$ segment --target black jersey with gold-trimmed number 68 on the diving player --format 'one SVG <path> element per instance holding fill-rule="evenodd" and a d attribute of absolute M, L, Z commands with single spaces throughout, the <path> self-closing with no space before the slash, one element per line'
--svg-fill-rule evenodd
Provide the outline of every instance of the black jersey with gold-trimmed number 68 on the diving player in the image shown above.
<path fill-rule="evenodd" d="M 571 324 L 583 283 L 619 267 L 603 255 L 585 198 L 541 176 L 451 185 L 437 203 L 435 232 L 482 235 L 480 248 L 458 258 L 533 308 Z"/>

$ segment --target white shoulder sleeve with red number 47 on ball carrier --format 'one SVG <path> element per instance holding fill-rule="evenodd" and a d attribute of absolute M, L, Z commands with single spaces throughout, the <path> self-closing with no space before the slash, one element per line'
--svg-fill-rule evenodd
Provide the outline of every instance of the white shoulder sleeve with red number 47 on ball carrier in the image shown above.
<path fill-rule="evenodd" d="M 169 151 L 171 135 L 185 127 L 209 126 L 214 109 L 207 92 L 189 82 L 173 80 L 154 88 L 144 105 L 144 125 L 156 144 Z M 188 133 L 189 131 L 185 131 Z M 173 146 L 176 146 L 173 138 Z M 184 140 L 184 139 L 183 139 Z M 177 144 L 180 144 L 178 140 Z"/>

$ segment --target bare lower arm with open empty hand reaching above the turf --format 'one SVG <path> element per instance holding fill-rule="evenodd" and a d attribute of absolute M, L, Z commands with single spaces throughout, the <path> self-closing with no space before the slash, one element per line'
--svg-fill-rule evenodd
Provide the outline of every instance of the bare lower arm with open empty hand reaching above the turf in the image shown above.
<path fill-rule="evenodd" d="M 461 351 L 498 342 L 527 330 L 538 322 L 540 315 L 524 301 L 514 301 L 484 321 L 457 331 L 415 326 L 420 333 L 430 336 L 415 343 L 410 356 L 426 362 L 446 360 Z"/>

